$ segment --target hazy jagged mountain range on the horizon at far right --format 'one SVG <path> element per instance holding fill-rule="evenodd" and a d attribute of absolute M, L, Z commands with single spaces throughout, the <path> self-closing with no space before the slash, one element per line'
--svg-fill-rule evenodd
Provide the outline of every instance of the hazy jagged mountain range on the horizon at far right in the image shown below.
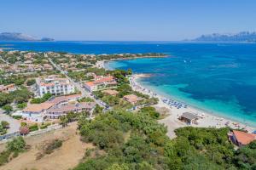
<path fill-rule="evenodd" d="M 210 34 L 202 35 L 192 41 L 201 42 L 256 42 L 256 32 L 241 31 L 237 34 Z"/>

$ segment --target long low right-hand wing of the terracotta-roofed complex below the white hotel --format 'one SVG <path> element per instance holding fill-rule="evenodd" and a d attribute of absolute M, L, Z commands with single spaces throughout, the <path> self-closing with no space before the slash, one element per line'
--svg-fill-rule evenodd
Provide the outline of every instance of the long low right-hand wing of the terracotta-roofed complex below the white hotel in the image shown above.
<path fill-rule="evenodd" d="M 94 102 L 82 102 L 77 104 L 70 105 L 58 105 L 50 108 L 47 111 L 47 118 L 49 119 L 58 119 L 60 116 L 67 115 L 68 112 L 79 113 L 82 111 L 93 111 L 96 104 Z"/>

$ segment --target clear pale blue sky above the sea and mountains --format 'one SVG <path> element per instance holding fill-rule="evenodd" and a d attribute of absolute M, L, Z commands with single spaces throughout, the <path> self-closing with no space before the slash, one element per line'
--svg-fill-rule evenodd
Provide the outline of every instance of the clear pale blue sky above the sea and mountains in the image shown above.
<path fill-rule="evenodd" d="M 255 0 L 3 0 L 0 32 L 55 40 L 178 41 L 256 31 Z"/>

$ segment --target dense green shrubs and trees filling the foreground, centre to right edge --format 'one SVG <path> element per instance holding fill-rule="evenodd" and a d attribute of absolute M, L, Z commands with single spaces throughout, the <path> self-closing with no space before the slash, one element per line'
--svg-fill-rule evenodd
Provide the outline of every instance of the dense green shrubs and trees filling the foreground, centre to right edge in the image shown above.
<path fill-rule="evenodd" d="M 144 107 L 137 114 L 110 111 L 93 121 L 79 120 L 85 142 L 96 145 L 86 152 L 84 169 L 255 169 L 256 142 L 234 150 L 229 128 L 183 127 L 177 138 L 166 137 L 157 112 Z M 103 150 L 102 152 L 99 150 Z"/>

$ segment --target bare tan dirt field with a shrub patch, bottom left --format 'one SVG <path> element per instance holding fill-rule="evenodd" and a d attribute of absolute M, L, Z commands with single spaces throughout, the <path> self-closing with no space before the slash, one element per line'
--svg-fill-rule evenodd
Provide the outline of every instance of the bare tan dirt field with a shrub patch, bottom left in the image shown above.
<path fill-rule="evenodd" d="M 27 138 L 26 143 L 31 144 L 32 149 L 9 161 L 0 167 L 0 170 L 24 170 L 26 168 L 27 170 L 66 170 L 75 167 L 83 158 L 85 149 L 93 147 L 92 144 L 84 144 L 79 140 L 76 127 L 77 125 L 74 123 L 52 133 Z M 36 160 L 42 144 L 52 139 L 64 140 L 61 148 Z"/>

